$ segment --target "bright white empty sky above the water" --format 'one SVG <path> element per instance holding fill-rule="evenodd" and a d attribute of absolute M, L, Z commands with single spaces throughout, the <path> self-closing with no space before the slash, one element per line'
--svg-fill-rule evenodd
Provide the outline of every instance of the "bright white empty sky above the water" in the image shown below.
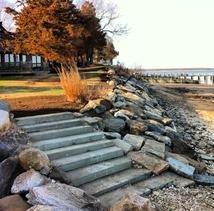
<path fill-rule="evenodd" d="M 138 68 L 214 67 L 214 0 L 113 2 L 118 21 L 130 29 L 114 38 L 117 61 Z"/>

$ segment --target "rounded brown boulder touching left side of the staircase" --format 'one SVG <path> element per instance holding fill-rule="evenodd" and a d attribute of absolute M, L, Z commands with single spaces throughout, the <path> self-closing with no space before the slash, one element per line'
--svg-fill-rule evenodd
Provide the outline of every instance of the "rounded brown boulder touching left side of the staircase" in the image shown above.
<path fill-rule="evenodd" d="M 22 151 L 19 155 L 19 163 L 25 169 L 34 169 L 43 174 L 50 172 L 50 160 L 48 156 L 39 149 L 29 148 Z"/>

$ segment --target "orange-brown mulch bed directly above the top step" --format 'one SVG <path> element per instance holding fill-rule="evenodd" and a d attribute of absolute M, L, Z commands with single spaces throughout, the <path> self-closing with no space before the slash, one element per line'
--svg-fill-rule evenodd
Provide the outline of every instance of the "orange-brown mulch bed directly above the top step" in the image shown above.
<path fill-rule="evenodd" d="M 15 117 L 48 114 L 64 111 L 79 111 L 84 105 L 66 101 L 63 95 L 35 96 L 6 99 Z"/>

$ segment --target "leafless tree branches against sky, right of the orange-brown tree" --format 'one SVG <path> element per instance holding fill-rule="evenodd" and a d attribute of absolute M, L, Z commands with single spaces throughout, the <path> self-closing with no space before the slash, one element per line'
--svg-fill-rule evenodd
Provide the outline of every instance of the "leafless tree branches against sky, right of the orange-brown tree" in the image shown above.
<path fill-rule="evenodd" d="M 127 25 L 118 23 L 118 7 L 113 1 L 89 0 L 96 8 L 96 15 L 100 19 L 102 30 L 109 36 L 119 36 L 128 32 Z M 75 3 L 80 6 L 85 0 L 76 0 Z"/>

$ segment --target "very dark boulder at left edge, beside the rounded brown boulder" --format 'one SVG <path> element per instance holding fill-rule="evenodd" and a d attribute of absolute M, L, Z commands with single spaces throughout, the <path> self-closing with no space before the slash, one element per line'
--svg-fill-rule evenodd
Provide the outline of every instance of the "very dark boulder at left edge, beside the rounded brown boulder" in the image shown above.
<path fill-rule="evenodd" d="M 15 157 L 9 157 L 0 163 L 0 198 L 10 194 L 14 179 L 22 172 Z"/>

